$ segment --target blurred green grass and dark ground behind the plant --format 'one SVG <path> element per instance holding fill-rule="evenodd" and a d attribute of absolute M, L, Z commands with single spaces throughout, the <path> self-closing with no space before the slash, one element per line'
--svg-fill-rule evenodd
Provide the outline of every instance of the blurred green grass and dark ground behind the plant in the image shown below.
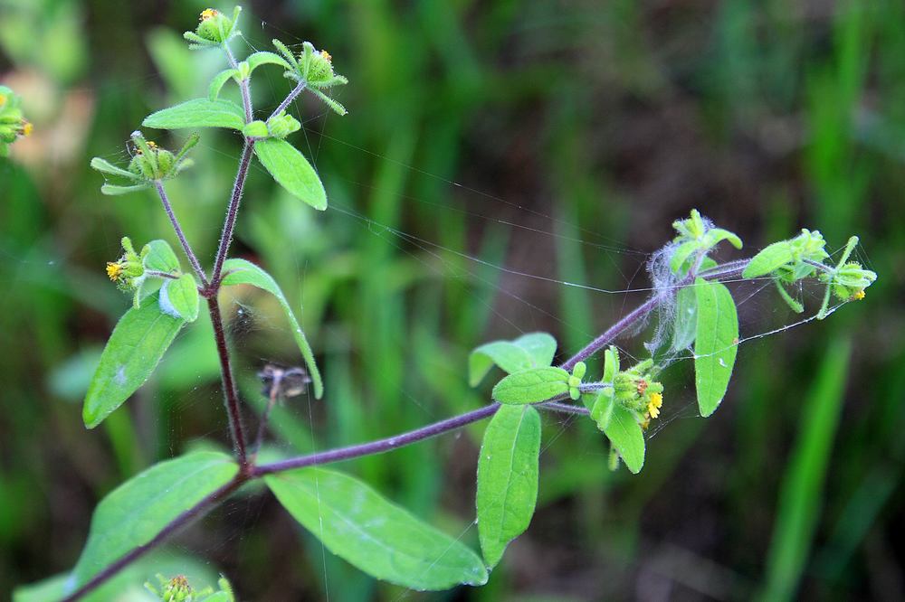
<path fill-rule="evenodd" d="M 93 362 L 129 303 L 104 262 L 123 234 L 176 244 L 155 198 L 102 197 L 89 160 L 125 162 L 145 115 L 204 95 L 223 58 L 187 51 L 181 33 L 205 6 L 0 0 L 0 83 L 24 97 L 35 125 L 0 162 L 0 597 L 71 568 L 94 505 L 129 475 L 226 445 L 203 320 L 129 404 L 97 430 L 81 424 Z M 486 403 L 465 365 L 493 338 L 548 330 L 565 358 L 643 292 L 561 281 L 648 287 L 645 260 L 692 207 L 737 231 L 748 253 L 801 227 L 822 230 L 833 249 L 860 234 L 880 280 L 824 323 L 744 343 L 712 419 L 694 416 L 689 362 L 672 367 L 668 425 L 641 475 L 606 470 L 589 421 L 546 416 L 538 513 L 485 588 L 378 584 L 253 492 L 161 550 L 165 564 L 148 563 L 148 575 L 200 564 L 209 580 L 223 571 L 240 599 L 260 600 L 905 598 L 895 535 L 905 518 L 905 5 L 244 8 L 235 52 L 310 40 L 351 82 L 336 97 L 345 118 L 296 103 L 306 129 L 293 141 L 315 160 L 331 209 L 311 211 L 258 169 L 233 246 L 304 306 L 326 372 L 325 400 L 279 411 L 283 453 Z M 268 67 L 252 86 L 262 111 L 290 89 Z M 148 132 L 168 146 L 176 134 Z M 195 168 L 168 185 L 206 264 L 239 144 L 204 132 Z M 254 372 L 298 362 L 297 352 L 271 299 L 222 301 L 253 424 Z M 780 304 L 769 289 L 743 303 L 743 333 L 793 323 Z M 640 354 L 643 339 L 621 343 Z M 339 467 L 475 545 L 482 428 Z"/>

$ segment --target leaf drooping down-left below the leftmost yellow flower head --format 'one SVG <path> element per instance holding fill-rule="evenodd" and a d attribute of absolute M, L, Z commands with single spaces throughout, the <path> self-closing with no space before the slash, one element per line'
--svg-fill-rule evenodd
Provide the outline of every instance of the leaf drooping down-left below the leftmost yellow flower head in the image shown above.
<path fill-rule="evenodd" d="M 157 303 L 132 307 L 119 319 L 85 396 L 81 416 L 87 428 L 97 427 L 148 380 L 184 324 Z"/>

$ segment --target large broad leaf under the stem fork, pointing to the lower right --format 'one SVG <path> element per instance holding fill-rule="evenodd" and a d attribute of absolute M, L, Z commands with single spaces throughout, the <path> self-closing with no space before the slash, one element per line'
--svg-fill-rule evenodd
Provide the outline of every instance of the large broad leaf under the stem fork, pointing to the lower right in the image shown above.
<path fill-rule="evenodd" d="M 472 550 L 351 476 L 302 468 L 264 480 L 328 550 L 372 577 L 422 590 L 487 582 Z"/>

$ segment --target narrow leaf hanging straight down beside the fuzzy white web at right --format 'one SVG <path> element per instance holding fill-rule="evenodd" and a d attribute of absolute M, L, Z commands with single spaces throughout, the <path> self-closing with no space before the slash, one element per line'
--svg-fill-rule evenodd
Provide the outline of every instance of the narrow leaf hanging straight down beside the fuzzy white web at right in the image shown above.
<path fill-rule="evenodd" d="M 694 343 L 694 383 L 700 415 L 717 409 L 729 387 L 738 352 L 738 314 L 729 288 L 698 278 L 694 283 L 698 327 Z"/>

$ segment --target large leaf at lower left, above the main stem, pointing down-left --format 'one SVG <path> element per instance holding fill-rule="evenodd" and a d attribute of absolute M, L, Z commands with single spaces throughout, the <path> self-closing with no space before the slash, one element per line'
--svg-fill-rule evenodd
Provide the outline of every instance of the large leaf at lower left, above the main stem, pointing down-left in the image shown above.
<path fill-rule="evenodd" d="M 72 571 L 80 588 L 124 554 L 154 539 L 179 514 L 229 483 L 239 467 L 230 456 L 197 452 L 133 476 L 100 501 L 88 541 Z"/>

